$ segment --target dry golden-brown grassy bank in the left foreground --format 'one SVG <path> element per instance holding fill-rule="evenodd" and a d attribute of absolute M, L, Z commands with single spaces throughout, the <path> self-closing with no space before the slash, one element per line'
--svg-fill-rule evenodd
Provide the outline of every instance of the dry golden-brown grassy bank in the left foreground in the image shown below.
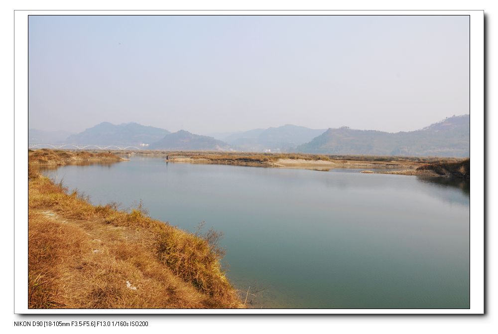
<path fill-rule="evenodd" d="M 210 243 L 140 207 L 93 206 L 35 172 L 28 207 L 29 308 L 244 307 L 216 235 Z"/>

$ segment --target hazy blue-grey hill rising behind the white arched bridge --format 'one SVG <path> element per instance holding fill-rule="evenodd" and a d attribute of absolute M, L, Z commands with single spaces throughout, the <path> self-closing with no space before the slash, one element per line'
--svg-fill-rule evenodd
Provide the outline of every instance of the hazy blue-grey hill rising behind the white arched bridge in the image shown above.
<path fill-rule="evenodd" d="M 103 122 L 79 134 L 71 135 L 65 141 L 71 144 L 151 144 L 169 133 L 168 130 L 137 123 L 114 125 Z"/>

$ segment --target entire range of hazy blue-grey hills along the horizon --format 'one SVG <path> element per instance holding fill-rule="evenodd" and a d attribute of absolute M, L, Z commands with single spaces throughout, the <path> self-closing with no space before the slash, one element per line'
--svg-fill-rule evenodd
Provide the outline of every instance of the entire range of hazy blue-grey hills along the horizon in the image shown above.
<path fill-rule="evenodd" d="M 218 138 L 137 123 L 100 123 L 79 134 L 29 130 L 30 143 L 148 144 L 150 150 L 302 152 L 339 155 L 468 157 L 470 115 L 453 116 L 424 129 L 388 133 L 374 130 L 309 129 L 295 125 L 216 134 Z M 67 138 L 63 138 L 67 137 Z M 223 139 L 223 140 L 220 140 Z"/>

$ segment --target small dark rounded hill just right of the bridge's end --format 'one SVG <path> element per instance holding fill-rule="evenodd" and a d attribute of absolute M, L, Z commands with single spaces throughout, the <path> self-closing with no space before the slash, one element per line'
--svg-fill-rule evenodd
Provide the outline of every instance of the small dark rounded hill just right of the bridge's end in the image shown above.
<path fill-rule="evenodd" d="M 188 131 L 180 130 L 152 143 L 148 149 L 168 151 L 227 151 L 230 149 L 230 146 L 213 137 L 195 135 Z"/>

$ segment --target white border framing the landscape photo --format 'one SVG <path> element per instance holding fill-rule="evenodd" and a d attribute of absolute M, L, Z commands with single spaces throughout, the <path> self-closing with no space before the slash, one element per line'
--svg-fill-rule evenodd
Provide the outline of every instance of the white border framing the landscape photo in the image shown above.
<path fill-rule="evenodd" d="M 27 155 L 29 15 L 469 15 L 470 309 L 56 309 L 27 308 Z M 484 11 L 483 10 L 15 10 L 14 11 L 14 313 L 15 314 L 484 314 Z"/>

